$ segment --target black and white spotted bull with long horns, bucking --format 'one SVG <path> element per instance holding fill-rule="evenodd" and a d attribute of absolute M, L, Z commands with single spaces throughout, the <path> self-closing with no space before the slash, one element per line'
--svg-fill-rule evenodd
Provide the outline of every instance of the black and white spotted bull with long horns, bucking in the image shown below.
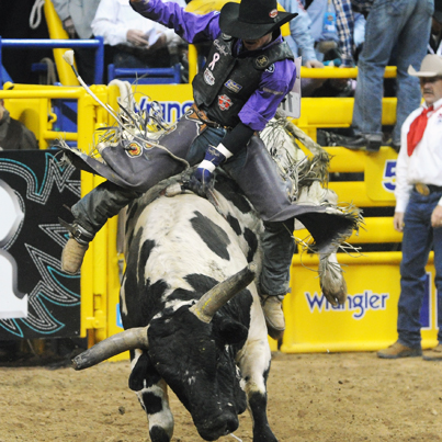
<path fill-rule="evenodd" d="M 165 196 L 167 184 L 128 213 L 121 291 L 126 330 L 77 356 L 75 366 L 131 349 L 129 387 L 154 442 L 172 438 L 168 385 L 204 440 L 234 432 L 249 407 L 253 441 L 276 441 L 267 418 L 271 352 L 253 283 L 262 223 L 223 175 L 213 193 L 217 208 L 192 193 Z"/>

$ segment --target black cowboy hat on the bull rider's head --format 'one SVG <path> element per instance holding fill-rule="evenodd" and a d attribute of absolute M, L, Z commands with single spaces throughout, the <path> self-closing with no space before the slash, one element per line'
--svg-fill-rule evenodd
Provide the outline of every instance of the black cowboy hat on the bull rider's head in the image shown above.
<path fill-rule="evenodd" d="M 258 39 L 290 22 L 297 14 L 277 11 L 276 0 L 228 2 L 220 10 L 222 31 L 241 39 Z"/>

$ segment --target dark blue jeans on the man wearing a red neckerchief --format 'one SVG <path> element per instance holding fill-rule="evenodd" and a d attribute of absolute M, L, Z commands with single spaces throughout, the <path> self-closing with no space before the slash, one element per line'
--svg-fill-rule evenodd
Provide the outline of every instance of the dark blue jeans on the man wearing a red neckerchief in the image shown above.
<path fill-rule="evenodd" d="M 432 247 L 438 290 L 438 339 L 442 342 L 442 227 L 431 227 L 431 214 L 441 196 L 442 192 L 423 196 L 412 191 L 404 216 L 397 331 L 399 342 L 411 348 L 421 345 L 419 318 L 424 294 L 424 267 Z"/>

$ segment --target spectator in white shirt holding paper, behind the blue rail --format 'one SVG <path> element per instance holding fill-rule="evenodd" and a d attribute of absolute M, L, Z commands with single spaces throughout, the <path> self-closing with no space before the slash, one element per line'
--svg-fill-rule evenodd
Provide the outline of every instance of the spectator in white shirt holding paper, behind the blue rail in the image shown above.
<path fill-rule="evenodd" d="M 184 0 L 178 4 L 185 8 Z M 94 35 L 112 47 L 115 67 L 156 68 L 174 64 L 168 48 L 175 49 L 181 38 L 151 20 L 137 14 L 125 0 L 101 0 L 92 22 Z M 171 50 L 173 52 L 173 50 Z"/>

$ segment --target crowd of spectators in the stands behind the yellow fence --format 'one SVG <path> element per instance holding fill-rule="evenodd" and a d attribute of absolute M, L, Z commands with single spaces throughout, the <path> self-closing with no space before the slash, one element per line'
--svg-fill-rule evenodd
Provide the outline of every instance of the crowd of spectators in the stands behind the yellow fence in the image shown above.
<path fill-rule="evenodd" d="M 192 0 L 166 1 L 185 7 Z M 110 64 L 135 70 L 181 64 L 185 71 L 185 42 L 173 30 L 140 16 L 127 0 L 52 2 L 69 38 L 103 37 L 104 82 L 107 82 Z M 0 7 L 2 38 L 47 37 L 44 21 L 34 30 L 27 23 L 33 0 L 21 2 L 21 8 L 16 2 L 3 3 Z M 398 151 L 401 124 L 420 101 L 419 84 L 407 73 L 408 66 L 418 68 L 427 53 L 442 53 L 442 0 L 280 0 L 279 3 L 287 12 L 298 14 L 290 23 L 290 35 L 285 38 L 294 56 L 302 57 L 305 68 L 359 68 L 355 79 L 302 78 L 302 97 L 355 98 L 351 127 L 318 131 L 318 143 L 367 151 L 377 151 L 381 145 L 387 144 Z M 200 49 L 204 55 L 204 48 Z M 3 52 L 3 66 L 14 82 L 36 82 L 30 73 L 31 61 L 37 61 L 36 55 L 52 56 L 50 50 Z M 76 61 L 80 76 L 91 84 L 93 49 L 76 49 Z M 385 66 L 397 67 L 396 80 L 384 79 Z M 182 78 L 185 81 L 186 76 Z M 394 127 L 382 126 L 383 97 L 398 98 Z"/>

